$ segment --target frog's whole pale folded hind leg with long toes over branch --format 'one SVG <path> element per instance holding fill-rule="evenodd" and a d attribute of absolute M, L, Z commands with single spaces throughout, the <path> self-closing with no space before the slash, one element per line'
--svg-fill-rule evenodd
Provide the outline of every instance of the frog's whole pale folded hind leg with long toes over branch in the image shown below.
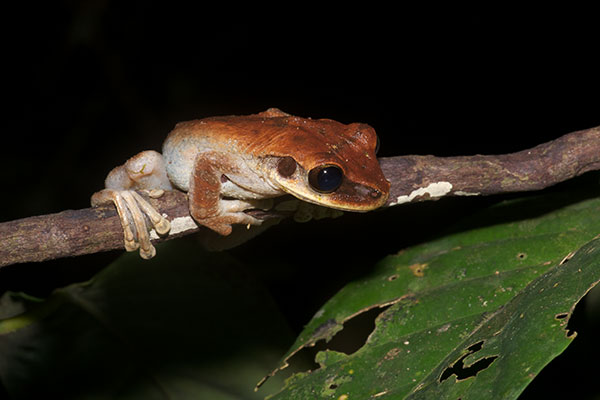
<path fill-rule="evenodd" d="M 154 257 L 156 249 L 150 242 L 146 217 L 159 235 L 167 234 L 171 227 L 136 190 L 146 191 L 150 197 L 160 197 L 164 190 L 172 189 L 162 156 L 155 151 L 135 155 L 108 174 L 105 186 L 92 196 L 92 206 L 113 203 L 123 226 L 125 249 L 139 248 L 142 258 Z"/>

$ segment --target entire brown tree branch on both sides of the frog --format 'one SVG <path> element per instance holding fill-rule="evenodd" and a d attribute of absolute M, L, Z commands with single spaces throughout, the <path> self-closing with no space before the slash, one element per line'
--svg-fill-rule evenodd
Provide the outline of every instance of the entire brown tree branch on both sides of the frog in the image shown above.
<path fill-rule="evenodd" d="M 392 184 L 385 207 L 444 196 L 539 190 L 600 170 L 600 127 L 512 154 L 398 156 L 379 161 Z M 171 221 L 166 240 L 197 231 L 206 237 L 215 235 L 193 222 L 186 194 L 167 192 L 149 200 Z M 258 210 L 251 213 L 262 219 L 286 216 Z M 0 238 L 0 267 L 123 248 L 123 231 L 113 207 L 68 210 L 0 223 Z"/>

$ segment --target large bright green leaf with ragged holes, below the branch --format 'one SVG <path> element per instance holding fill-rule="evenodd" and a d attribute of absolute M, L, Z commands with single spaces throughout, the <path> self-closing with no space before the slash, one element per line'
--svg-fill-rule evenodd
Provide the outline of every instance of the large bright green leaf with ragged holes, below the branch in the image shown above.
<path fill-rule="evenodd" d="M 473 225 L 387 257 L 330 299 L 278 370 L 361 314 L 379 313 L 374 330 L 355 352 L 317 353 L 320 367 L 272 399 L 517 397 L 569 345 L 573 308 L 600 280 L 600 198 L 506 202 Z"/>

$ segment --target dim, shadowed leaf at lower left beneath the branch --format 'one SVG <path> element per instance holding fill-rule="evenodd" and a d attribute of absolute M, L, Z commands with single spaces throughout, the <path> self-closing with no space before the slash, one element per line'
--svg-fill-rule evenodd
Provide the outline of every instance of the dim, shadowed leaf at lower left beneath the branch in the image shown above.
<path fill-rule="evenodd" d="M 11 398 L 263 398 L 254 386 L 293 336 L 261 287 L 178 240 L 42 302 L 7 294 L 1 383 Z"/>

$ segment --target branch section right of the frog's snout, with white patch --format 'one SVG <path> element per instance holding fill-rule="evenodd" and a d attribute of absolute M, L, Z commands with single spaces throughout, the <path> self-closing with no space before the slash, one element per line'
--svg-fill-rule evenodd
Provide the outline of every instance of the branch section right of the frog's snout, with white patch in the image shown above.
<path fill-rule="evenodd" d="M 600 127 L 569 133 L 518 153 L 379 159 L 392 183 L 388 206 L 442 196 L 540 190 L 600 170 Z"/>

